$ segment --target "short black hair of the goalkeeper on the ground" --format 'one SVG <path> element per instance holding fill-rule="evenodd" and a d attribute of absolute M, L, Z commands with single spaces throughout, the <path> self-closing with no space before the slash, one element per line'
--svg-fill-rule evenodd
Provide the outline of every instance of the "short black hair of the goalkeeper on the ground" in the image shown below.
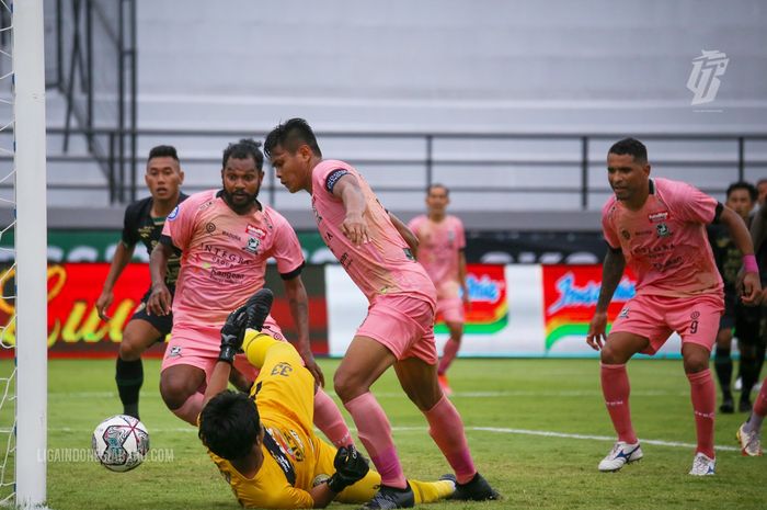
<path fill-rule="evenodd" d="M 259 410 L 244 393 L 226 389 L 199 413 L 197 435 L 213 453 L 227 461 L 248 455 L 260 432 Z"/>

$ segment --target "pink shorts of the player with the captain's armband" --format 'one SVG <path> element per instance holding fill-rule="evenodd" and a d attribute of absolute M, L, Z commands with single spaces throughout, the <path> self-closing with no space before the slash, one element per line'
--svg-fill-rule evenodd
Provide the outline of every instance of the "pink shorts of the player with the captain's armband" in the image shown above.
<path fill-rule="evenodd" d="M 434 307 L 431 303 L 404 294 L 378 296 L 367 309 L 357 329 L 358 337 L 382 343 L 398 360 L 419 358 L 437 363 L 434 344 Z"/>

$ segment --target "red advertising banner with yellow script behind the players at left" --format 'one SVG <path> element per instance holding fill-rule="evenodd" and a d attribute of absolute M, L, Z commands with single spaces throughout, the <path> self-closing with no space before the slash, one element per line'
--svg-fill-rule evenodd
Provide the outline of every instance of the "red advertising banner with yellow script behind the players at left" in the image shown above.
<path fill-rule="evenodd" d="M 113 358 L 123 339 L 123 329 L 149 288 L 147 264 L 128 265 L 114 288 L 114 302 L 107 314 L 108 322 L 99 318 L 95 301 L 110 271 L 107 263 L 65 263 L 48 267 L 48 352 L 50 358 Z M 275 291 L 273 317 L 283 327 L 288 339 L 295 339 L 289 306 L 284 297 L 278 275 L 270 276 L 266 284 Z M 328 313 L 324 297 L 324 277 L 321 268 L 307 268 L 304 281 L 309 294 L 310 338 L 317 354 L 328 352 Z M 13 272 L 0 282 L 3 296 L 13 292 Z M 15 344 L 15 302 L 0 298 L 0 324 L 8 325 L 2 332 L 7 345 Z M 159 358 L 164 344 L 150 348 L 146 355 Z M 0 358 L 13 355 L 12 350 L 0 350 Z"/>

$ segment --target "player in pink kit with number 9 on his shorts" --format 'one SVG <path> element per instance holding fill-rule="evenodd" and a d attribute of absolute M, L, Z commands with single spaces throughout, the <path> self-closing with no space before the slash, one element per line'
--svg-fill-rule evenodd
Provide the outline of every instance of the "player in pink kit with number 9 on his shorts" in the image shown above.
<path fill-rule="evenodd" d="M 748 230 L 737 213 L 697 189 L 650 179 L 646 148 L 633 138 L 610 147 L 607 177 L 615 192 L 602 217 L 609 249 L 586 342 L 602 350 L 602 390 L 618 442 L 599 463 L 599 471 L 618 471 L 642 457 L 631 424 L 626 363 L 639 352 L 654 354 L 676 331 L 682 337 L 698 438 L 689 474 L 713 475 L 717 396 L 709 358 L 724 302 L 705 227 L 716 222 L 728 226 L 743 253 L 743 303 L 756 304 L 760 284 Z M 637 274 L 637 295 L 618 315 L 605 341 L 607 306 L 627 263 Z"/>

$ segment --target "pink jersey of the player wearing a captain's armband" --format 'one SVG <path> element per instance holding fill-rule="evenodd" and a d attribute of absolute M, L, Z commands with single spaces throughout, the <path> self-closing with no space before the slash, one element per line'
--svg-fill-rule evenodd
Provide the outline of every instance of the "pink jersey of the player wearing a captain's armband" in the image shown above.
<path fill-rule="evenodd" d="M 341 230 L 346 209 L 341 199 L 333 195 L 333 186 L 345 174 L 357 179 L 367 203 L 364 218 L 370 242 L 359 247 Z M 434 306 L 434 284 L 423 267 L 415 262 L 389 214 L 354 167 L 324 160 L 312 169 L 311 185 L 311 204 L 322 239 L 370 303 L 379 295 L 408 294 Z"/>

